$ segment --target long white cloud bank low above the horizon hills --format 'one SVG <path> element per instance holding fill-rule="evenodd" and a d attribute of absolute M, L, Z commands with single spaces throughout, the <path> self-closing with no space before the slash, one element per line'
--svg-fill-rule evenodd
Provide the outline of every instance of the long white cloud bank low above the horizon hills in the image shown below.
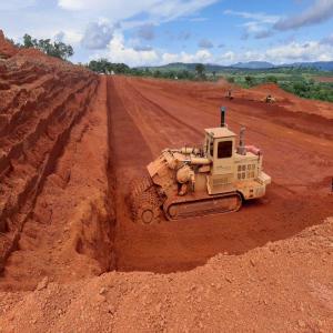
<path fill-rule="evenodd" d="M 214 56 L 208 49 L 193 53 L 184 51 L 175 53 L 157 50 L 150 46 L 142 47 L 135 40 L 127 44 L 123 34 L 117 31 L 109 43 L 108 51 L 97 53 L 93 59 L 102 57 L 112 62 L 124 62 L 131 67 L 160 65 L 172 62 L 232 64 L 246 61 L 269 61 L 281 64 L 302 61 L 329 61 L 333 59 L 333 49 L 330 44 L 324 44 L 321 41 L 307 41 L 305 43 L 292 41 L 265 50 L 246 50 L 244 52 L 226 50 L 218 56 Z"/>

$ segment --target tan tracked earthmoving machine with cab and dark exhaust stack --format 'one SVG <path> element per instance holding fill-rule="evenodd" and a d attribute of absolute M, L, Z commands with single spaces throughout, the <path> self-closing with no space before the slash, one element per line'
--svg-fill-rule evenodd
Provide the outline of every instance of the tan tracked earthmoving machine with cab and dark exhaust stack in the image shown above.
<path fill-rule="evenodd" d="M 201 147 L 165 149 L 148 167 L 148 174 L 130 189 L 134 222 L 151 224 L 209 214 L 236 212 L 244 201 L 265 195 L 271 176 L 263 172 L 263 154 L 240 141 L 225 123 L 204 130 Z"/>

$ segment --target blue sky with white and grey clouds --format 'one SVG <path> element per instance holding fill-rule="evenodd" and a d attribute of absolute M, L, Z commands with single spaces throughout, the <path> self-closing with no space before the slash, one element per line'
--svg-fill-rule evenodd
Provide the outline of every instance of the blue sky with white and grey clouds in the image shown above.
<path fill-rule="evenodd" d="M 333 0 L 0 0 L 0 29 L 83 63 L 333 61 Z"/>

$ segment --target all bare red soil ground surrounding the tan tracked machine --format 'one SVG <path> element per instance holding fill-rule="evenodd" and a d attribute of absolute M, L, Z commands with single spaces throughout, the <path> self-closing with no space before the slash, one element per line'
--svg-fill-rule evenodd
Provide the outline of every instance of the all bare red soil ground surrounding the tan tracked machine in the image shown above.
<path fill-rule="evenodd" d="M 333 330 L 332 104 L 274 85 L 230 101 L 223 82 L 98 79 L 28 53 L 0 64 L 3 332 Z M 132 223 L 131 179 L 201 142 L 221 104 L 264 152 L 266 198 Z"/>

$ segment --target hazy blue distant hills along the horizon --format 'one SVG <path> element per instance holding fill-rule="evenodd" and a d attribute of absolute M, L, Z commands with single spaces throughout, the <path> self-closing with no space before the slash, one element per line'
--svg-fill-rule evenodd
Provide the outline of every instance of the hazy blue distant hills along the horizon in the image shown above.
<path fill-rule="evenodd" d="M 160 71 L 195 71 L 195 65 L 198 63 L 183 63 L 174 62 L 159 67 L 141 67 L 140 69 L 151 69 Z M 285 64 L 273 64 L 266 61 L 250 61 L 250 62 L 238 62 L 231 65 L 220 65 L 206 63 L 204 64 L 208 72 L 223 72 L 225 70 L 265 70 L 265 69 L 278 69 L 278 68 L 313 68 L 321 71 L 333 71 L 333 61 L 316 61 L 316 62 L 295 62 L 295 63 L 285 63 Z"/>

